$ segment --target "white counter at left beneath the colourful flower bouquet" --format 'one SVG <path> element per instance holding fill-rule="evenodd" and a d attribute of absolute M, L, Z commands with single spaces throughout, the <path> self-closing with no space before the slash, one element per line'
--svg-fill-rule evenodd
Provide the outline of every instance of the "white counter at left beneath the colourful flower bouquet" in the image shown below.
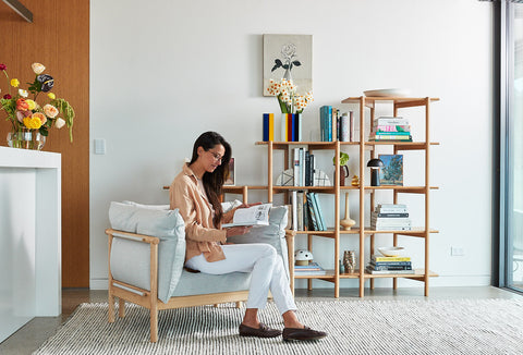
<path fill-rule="evenodd" d="M 0 342 L 61 314 L 61 155 L 0 147 Z"/>

